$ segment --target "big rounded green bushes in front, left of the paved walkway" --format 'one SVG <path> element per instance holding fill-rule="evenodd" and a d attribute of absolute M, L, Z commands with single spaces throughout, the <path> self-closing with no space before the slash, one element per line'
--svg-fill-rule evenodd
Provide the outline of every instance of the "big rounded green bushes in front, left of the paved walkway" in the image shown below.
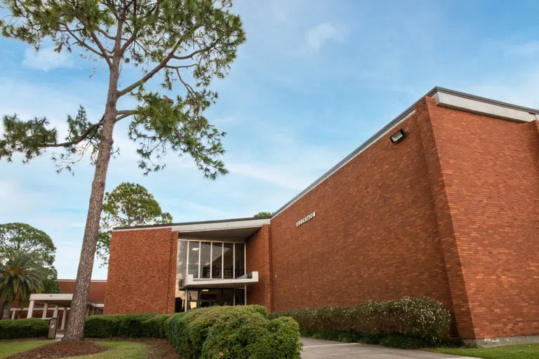
<path fill-rule="evenodd" d="M 194 309 L 166 320 L 166 331 L 185 359 L 299 359 L 302 348 L 298 323 L 268 320 L 262 306 Z"/>

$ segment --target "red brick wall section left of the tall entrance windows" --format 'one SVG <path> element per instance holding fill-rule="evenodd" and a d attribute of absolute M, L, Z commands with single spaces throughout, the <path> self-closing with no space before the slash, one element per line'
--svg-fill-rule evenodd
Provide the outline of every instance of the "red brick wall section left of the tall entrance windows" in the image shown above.
<path fill-rule="evenodd" d="M 176 241 L 170 228 L 112 232 L 106 314 L 173 313 Z"/>

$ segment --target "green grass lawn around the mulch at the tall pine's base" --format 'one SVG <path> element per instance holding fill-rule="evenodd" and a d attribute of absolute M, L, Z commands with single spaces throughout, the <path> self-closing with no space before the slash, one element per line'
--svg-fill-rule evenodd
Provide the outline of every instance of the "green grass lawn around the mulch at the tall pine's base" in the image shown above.
<path fill-rule="evenodd" d="M 39 341 L 5 341 L 0 343 L 0 358 L 8 355 L 27 351 L 45 344 L 50 344 L 50 340 Z M 109 346 L 110 350 L 93 355 L 83 355 L 73 357 L 76 359 L 146 359 L 147 347 L 142 343 L 133 341 L 100 341 L 99 344 Z M 67 358 L 66 358 L 67 359 Z"/>

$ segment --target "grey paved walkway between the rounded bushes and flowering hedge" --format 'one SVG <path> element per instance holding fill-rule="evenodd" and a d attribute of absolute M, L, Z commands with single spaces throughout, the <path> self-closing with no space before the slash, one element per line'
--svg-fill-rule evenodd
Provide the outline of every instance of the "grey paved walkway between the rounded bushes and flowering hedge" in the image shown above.
<path fill-rule="evenodd" d="M 448 354 L 429 353 L 428 351 L 408 351 L 404 349 L 384 348 L 383 346 L 357 343 L 340 343 L 321 339 L 302 338 L 302 359 L 459 359 L 468 357 Z"/>

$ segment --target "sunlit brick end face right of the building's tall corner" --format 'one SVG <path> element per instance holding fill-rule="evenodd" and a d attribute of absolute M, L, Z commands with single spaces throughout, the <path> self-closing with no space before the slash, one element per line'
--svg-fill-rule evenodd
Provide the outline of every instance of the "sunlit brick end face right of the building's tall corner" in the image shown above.
<path fill-rule="evenodd" d="M 503 121 L 426 101 L 465 283 L 453 293 L 453 305 L 456 296 L 467 299 L 471 314 L 460 334 L 539 334 L 537 122 Z"/>

